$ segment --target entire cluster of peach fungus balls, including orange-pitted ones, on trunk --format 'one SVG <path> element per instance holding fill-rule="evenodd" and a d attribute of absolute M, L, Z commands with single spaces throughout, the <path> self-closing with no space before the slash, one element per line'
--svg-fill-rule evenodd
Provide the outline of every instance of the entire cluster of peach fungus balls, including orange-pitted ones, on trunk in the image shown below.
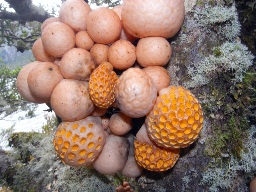
<path fill-rule="evenodd" d="M 169 86 L 163 68 L 172 54 L 165 38 L 179 31 L 184 12 L 183 0 L 124 0 L 95 10 L 67 0 L 59 18 L 44 21 L 33 46 L 38 61 L 21 69 L 17 87 L 63 119 L 53 144 L 64 164 L 138 177 L 143 168 L 170 169 L 180 148 L 198 138 L 202 108 L 184 87 Z M 140 67 L 132 67 L 136 60 Z M 109 119 L 111 106 L 121 112 Z M 143 116 L 135 138 L 132 118 Z"/>

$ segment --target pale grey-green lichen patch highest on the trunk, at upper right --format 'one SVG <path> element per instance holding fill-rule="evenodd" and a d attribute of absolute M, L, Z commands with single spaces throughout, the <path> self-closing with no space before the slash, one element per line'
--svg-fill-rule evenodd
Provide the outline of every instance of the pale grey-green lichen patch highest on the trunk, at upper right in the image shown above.
<path fill-rule="evenodd" d="M 223 2 L 215 6 L 206 3 L 204 9 L 195 9 L 193 12 L 199 27 L 210 29 L 219 24 L 218 34 L 224 35 L 228 40 L 236 39 L 241 31 L 235 6 L 225 7 Z"/>

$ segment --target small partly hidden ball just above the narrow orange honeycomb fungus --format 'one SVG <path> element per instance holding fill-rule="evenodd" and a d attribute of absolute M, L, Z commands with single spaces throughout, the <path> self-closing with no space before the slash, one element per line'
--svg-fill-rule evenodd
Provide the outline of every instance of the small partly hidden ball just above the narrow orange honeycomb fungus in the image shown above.
<path fill-rule="evenodd" d="M 94 44 L 90 49 L 92 58 L 94 59 L 97 66 L 99 66 L 104 61 L 108 62 L 108 49 L 108 45 L 100 43 Z"/>

